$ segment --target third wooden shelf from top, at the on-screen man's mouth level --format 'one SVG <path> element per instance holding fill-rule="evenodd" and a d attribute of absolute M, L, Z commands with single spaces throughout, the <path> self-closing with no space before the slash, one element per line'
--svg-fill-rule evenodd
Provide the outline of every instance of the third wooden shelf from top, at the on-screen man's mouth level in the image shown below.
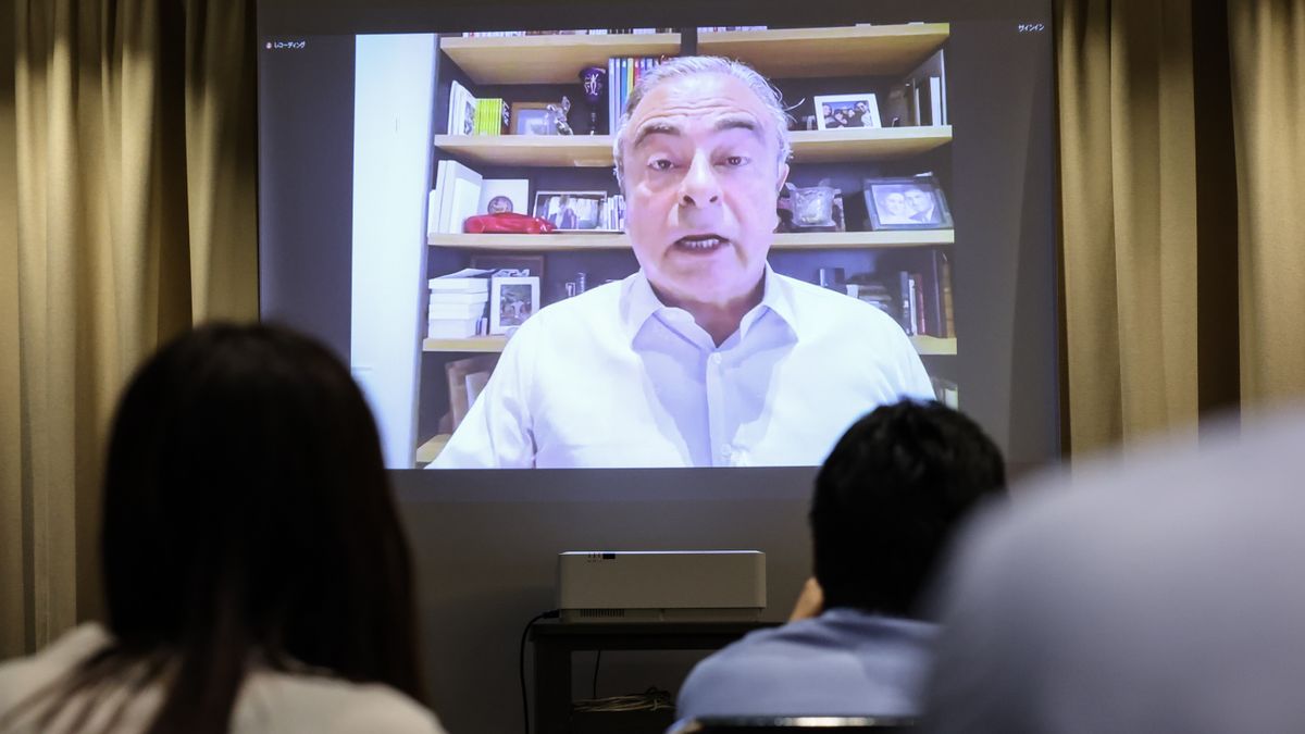
<path fill-rule="evenodd" d="M 487 249 L 496 252 L 560 252 L 628 249 L 630 238 L 624 234 L 547 234 L 487 235 L 437 234 L 427 239 L 431 247 Z M 933 247 L 953 244 L 951 230 L 910 230 L 881 232 L 791 232 L 775 235 L 773 249 L 864 249 L 898 247 Z"/>

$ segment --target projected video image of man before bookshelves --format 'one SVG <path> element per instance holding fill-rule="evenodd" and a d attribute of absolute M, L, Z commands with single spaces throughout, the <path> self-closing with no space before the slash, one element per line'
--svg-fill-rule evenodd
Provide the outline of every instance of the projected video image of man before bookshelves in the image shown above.
<path fill-rule="evenodd" d="M 812 466 L 880 404 L 957 405 L 949 25 L 622 30 L 358 37 L 386 460 Z"/>

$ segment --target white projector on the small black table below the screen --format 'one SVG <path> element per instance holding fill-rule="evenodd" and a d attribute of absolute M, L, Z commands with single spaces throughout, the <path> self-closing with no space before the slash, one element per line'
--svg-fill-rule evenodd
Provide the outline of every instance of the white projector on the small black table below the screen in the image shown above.
<path fill-rule="evenodd" d="M 765 607 L 761 551 L 557 554 L 562 622 L 750 622 Z"/>

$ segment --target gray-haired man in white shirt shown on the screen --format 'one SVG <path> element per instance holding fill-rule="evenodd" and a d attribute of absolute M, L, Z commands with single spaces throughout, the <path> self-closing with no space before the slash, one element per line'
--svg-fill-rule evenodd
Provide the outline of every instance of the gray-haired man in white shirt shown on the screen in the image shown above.
<path fill-rule="evenodd" d="M 893 319 L 767 265 L 787 129 L 744 64 L 647 73 L 613 142 L 639 270 L 527 320 L 432 466 L 816 465 L 867 410 L 932 398 Z"/>

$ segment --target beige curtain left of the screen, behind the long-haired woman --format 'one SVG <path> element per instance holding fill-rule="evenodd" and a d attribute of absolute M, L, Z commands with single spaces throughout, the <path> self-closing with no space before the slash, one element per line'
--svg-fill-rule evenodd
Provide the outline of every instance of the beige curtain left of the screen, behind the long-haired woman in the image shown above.
<path fill-rule="evenodd" d="M 0 340 L 17 347 L 18 419 L 7 380 L 0 571 L 22 593 L 0 596 L 0 620 L 21 620 L 0 654 L 99 610 L 100 455 L 132 370 L 192 323 L 256 317 L 252 13 L 17 3 L 17 320 Z"/>

